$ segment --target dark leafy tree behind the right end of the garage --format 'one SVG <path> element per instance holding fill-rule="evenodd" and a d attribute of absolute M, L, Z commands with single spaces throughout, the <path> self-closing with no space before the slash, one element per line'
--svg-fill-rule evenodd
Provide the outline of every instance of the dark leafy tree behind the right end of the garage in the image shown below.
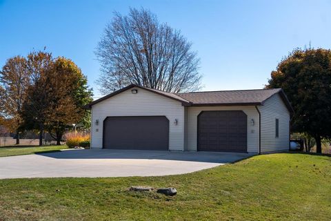
<path fill-rule="evenodd" d="M 272 71 L 267 88 L 283 88 L 294 108 L 292 131 L 331 137 L 331 50 L 296 49 Z"/>

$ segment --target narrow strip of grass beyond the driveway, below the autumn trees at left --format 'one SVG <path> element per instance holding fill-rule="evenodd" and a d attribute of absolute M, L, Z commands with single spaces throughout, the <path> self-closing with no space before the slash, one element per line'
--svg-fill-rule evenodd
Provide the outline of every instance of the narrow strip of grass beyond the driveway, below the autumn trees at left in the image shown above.
<path fill-rule="evenodd" d="M 68 148 L 65 145 L 61 146 L 5 146 L 0 147 L 0 157 L 28 155 L 34 153 L 49 153 L 57 152 L 61 149 Z M 1 218 L 0 218 L 1 220 Z"/>

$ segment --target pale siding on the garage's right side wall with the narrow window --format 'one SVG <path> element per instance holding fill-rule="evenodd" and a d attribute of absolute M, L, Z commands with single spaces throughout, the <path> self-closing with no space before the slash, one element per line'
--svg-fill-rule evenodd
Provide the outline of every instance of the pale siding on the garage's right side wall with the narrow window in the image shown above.
<path fill-rule="evenodd" d="M 290 112 L 279 94 L 272 95 L 261 112 L 261 153 L 288 151 L 290 142 Z M 279 136 L 276 136 L 276 119 L 279 119 Z"/>

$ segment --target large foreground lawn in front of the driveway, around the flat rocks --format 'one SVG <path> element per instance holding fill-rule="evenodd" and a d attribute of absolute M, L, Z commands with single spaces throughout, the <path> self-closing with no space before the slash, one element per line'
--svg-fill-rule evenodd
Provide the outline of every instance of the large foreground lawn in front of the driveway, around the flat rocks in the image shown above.
<path fill-rule="evenodd" d="M 185 175 L 0 180 L 0 220 L 330 220 L 330 187 L 331 157 L 299 153 Z"/>

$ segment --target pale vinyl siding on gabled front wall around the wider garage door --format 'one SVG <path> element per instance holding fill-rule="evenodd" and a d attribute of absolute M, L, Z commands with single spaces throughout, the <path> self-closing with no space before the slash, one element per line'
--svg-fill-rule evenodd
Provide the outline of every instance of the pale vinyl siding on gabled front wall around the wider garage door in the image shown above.
<path fill-rule="evenodd" d="M 137 89 L 138 93 L 132 94 L 132 89 Z M 92 148 L 102 148 L 103 120 L 108 116 L 165 116 L 170 124 L 170 151 L 183 151 L 184 107 L 181 102 L 141 88 L 130 88 L 94 104 L 92 106 Z M 99 125 L 95 124 L 97 119 L 99 119 Z M 178 120 L 177 125 L 174 124 L 174 119 Z"/>

